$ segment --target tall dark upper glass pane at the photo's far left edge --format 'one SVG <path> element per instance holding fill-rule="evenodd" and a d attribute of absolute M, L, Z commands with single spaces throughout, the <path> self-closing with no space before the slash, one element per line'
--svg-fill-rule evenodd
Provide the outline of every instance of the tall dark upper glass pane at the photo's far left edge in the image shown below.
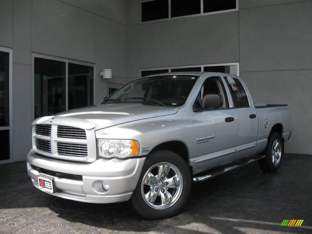
<path fill-rule="evenodd" d="M 9 126 L 9 53 L 0 51 L 0 126 Z"/>

